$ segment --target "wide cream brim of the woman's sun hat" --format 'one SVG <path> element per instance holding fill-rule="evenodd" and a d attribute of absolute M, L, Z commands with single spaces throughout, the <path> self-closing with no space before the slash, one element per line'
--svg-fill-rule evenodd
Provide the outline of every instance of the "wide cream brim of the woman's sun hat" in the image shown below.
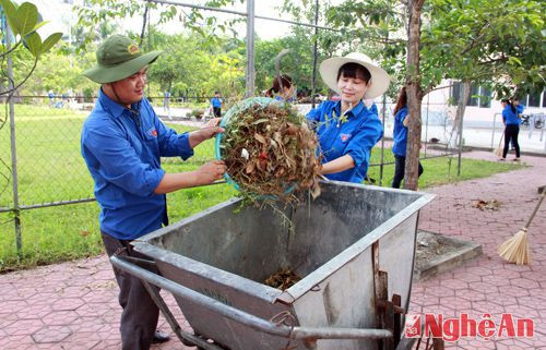
<path fill-rule="evenodd" d="M 319 72 L 324 84 L 327 84 L 328 87 L 330 87 L 337 94 L 341 94 L 341 90 L 337 87 L 337 72 L 340 71 L 340 68 L 342 68 L 342 65 L 345 63 L 357 63 L 366 67 L 368 71 L 370 71 L 371 86 L 368 87 L 368 89 L 364 94 L 364 99 L 370 99 L 381 96 L 389 88 L 389 85 L 391 84 L 391 77 L 383 69 L 369 62 L 364 62 L 352 58 L 333 57 L 320 64 Z"/>

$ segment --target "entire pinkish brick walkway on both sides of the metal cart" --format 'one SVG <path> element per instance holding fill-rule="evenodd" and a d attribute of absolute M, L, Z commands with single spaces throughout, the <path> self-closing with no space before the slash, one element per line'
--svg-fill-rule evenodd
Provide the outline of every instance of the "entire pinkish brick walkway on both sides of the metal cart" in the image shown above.
<path fill-rule="evenodd" d="M 494 159 L 488 153 L 465 156 Z M 530 229 L 532 266 L 506 264 L 495 251 L 524 225 L 538 197 L 536 188 L 546 182 L 546 158 L 525 160 L 532 167 L 429 190 L 438 196 L 422 210 L 420 228 L 479 242 L 484 255 L 414 283 L 411 312 L 489 313 L 494 319 L 507 312 L 535 321 L 533 339 L 462 339 L 450 349 L 546 349 L 546 205 Z M 503 205 L 498 212 L 480 212 L 472 207 L 477 198 Z M 174 299 L 165 297 L 179 315 Z M 0 275 L 0 349 L 119 349 L 119 313 L 105 256 Z M 163 318 L 161 327 L 170 330 Z M 153 349 L 186 348 L 171 340 Z"/>

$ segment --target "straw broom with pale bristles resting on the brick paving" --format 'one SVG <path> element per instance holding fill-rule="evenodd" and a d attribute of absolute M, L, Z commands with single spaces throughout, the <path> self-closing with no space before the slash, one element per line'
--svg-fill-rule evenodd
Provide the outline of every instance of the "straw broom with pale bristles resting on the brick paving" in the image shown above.
<path fill-rule="evenodd" d="M 531 214 L 527 224 L 520 231 L 518 231 L 518 233 L 515 233 L 512 238 L 510 238 L 508 241 L 506 241 L 499 246 L 498 253 L 500 257 L 502 257 L 507 262 L 515 263 L 517 265 L 529 265 L 531 263 L 529 242 L 527 242 L 527 228 L 531 225 L 533 218 L 535 217 L 536 212 L 538 212 L 538 207 L 541 207 L 541 204 L 543 203 L 545 195 L 546 195 L 546 188 L 543 189 L 543 194 L 541 195 L 541 200 L 536 204 L 533 214 Z"/>

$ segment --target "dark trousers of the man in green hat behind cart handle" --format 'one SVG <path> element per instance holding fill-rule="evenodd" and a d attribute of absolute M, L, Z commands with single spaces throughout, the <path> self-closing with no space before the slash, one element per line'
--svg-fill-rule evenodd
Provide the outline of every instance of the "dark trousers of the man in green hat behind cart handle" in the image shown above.
<path fill-rule="evenodd" d="M 149 256 L 133 251 L 129 241 L 115 239 L 105 232 L 100 233 L 108 256 L 122 250 L 121 255 L 150 260 Z M 119 286 L 119 304 L 123 309 L 119 326 L 121 349 L 149 350 L 157 327 L 159 309 L 139 278 L 117 268 L 114 268 L 114 274 Z"/>

